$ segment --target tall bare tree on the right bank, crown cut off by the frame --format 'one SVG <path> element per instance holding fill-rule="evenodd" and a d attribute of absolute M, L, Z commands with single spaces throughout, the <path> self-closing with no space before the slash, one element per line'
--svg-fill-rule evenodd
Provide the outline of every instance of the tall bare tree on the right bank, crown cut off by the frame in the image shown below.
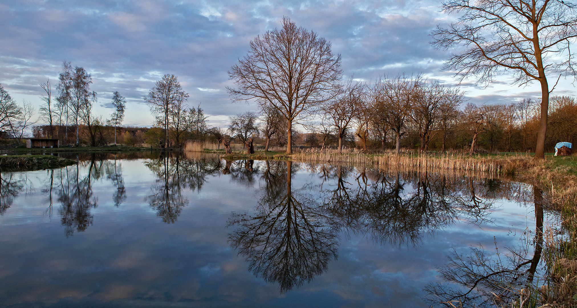
<path fill-rule="evenodd" d="M 514 82 L 541 85 L 541 119 L 535 157 L 545 158 L 549 107 L 548 74 L 571 72 L 569 46 L 577 37 L 577 12 L 572 2 L 558 0 L 449 0 L 447 13 L 461 13 L 457 22 L 433 32 L 433 46 L 456 48 L 444 65 L 459 80 L 475 76 L 479 82 L 494 80 L 506 70 Z M 559 81 L 559 78 L 557 78 Z"/>

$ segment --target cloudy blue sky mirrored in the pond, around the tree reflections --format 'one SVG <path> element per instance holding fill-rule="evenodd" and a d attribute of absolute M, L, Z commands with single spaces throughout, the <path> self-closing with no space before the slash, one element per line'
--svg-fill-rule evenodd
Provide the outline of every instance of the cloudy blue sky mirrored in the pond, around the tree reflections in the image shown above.
<path fill-rule="evenodd" d="M 267 283 L 261 276 L 254 277 L 247 271 L 249 264 L 243 257 L 236 257 L 237 251 L 227 243 L 228 234 L 233 230 L 224 226 L 231 211 L 248 212 L 252 216 L 258 213 L 254 209 L 256 202 L 250 203 L 256 191 L 259 199 L 265 190 L 279 196 L 286 194 L 286 163 L 281 161 L 275 165 L 276 162 L 272 162 L 269 171 L 276 171 L 268 175 L 263 161 L 254 163 L 252 175 L 245 171 L 244 166 L 238 164 L 235 169 L 233 165 L 232 172 L 238 174 L 234 179 L 223 175 L 220 170 L 205 172 L 204 180 L 186 175 L 189 178 L 182 181 L 181 177 L 181 183 L 187 183 L 181 187 L 181 193 L 188 198 L 190 205 L 183 206 L 174 224 L 164 224 L 144 201 L 158 178 L 156 173 L 140 161 L 136 161 L 138 164 L 133 160 L 120 162 L 126 200 L 118 208 L 114 206 L 113 193 L 117 187 L 113 178 L 106 176 L 107 168 L 102 168 L 104 174 L 98 181 L 95 181 L 98 174 L 92 172 L 92 191 L 98 197 L 98 207 L 91 208 L 93 224 L 69 238 L 63 236 L 59 219 L 50 223 L 49 217 L 43 216 L 46 195 L 40 190 L 46 187 L 47 180 L 49 182 L 49 173 L 32 173 L 31 181 L 39 187 L 38 190 L 18 195 L 0 216 L 0 232 L 3 234 L 0 238 L 3 247 L 0 250 L 0 259 L 3 260 L 0 277 L 2 281 L 10 281 L 10 286 L 0 290 L 0 306 L 41 302 L 55 303 L 55 306 L 62 306 L 65 302 L 73 303 L 73 306 L 81 303 L 126 306 L 129 302 L 134 306 L 153 303 L 168 306 L 182 301 L 198 305 L 254 307 L 287 302 L 294 306 L 315 307 L 387 306 L 389 303 L 396 307 L 419 307 L 425 306 L 421 302 L 422 287 L 435 280 L 434 266 L 444 264 L 445 255 L 452 246 L 467 249 L 468 243 L 476 245 L 478 242 L 489 246 L 494 231 L 506 234 L 505 226 L 493 226 L 490 231 L 484 226 L 482 231 L 477 226 L 455 221 L 448 228 L 425 232 L 419 244 L 413 246 L 374 242 L 378 238 L 366 232 L 370 225 L 365 223 L 357 225 L 365 228 L 358 228 L 357 232 L 339 227 L 335 233 L 340 245 L 338 260 L 330 258 L 322 275 L 316 275 L 310 283 L 281 295 L 278 284 Z M 100 166 L 98 160 L 95 163 L 96 167 Z M 136 168 L 134 172 L 138 176 L 131 174 L 127 166 Z M 224 163 L 221 170 L 222 167 Z M 87 174 L 88 168 L 88 162 L 81 164 L 80 175 Z M 293 172 L 291 191 L 294 195 L 298 190 L 297 201 L 303 204 L 307 213 L 321 213 L 327 217 L 323 212 L 325 199 L 318 195 L 319 185 L 322 183 L 323 189 L 338 186 L 336 170 L 332 170 L 333 175 L 327 178 L 319 178 L 310 176 L 297 163 L 293 163 L 292 169 L 299 170 Z M 350 192 L 357 189 L 355 181 L 360 172 L 353 168 L 348 172 L 343 178 L 354 184 L 347 184 Z M 366 171 L 368 181 L 377 181 L 378 173 Z M 282 176 L 277 176 L 278 185 L 263 178 L 274 178 L 279 174 Z M 383 174 L 380 176 L 383 179 Z M 402 174 L 400 179 L 406 181 L 404 177 L 410 175 Z M 235 182 L 237 178 L 240 185 Z M 195 183 L 192 188 L 189 179 Z M 395 176 L 390 179 L 394 180 Z M 434 175 L 429 175 L 428 188 L 435 181 Z M 404 183 L 404 196 L 417 191 L 418 182 L 414 179 Z M 466 194 L 469 183 L 454 182 L 457 187 L 453 190 Z M 198 186 L 196 183 L 204 184 Z M 305 183 L 309 183 L 307 187 L 310 190 L 302 188 Z M 484 183 L 479 180 L 474 185 L 478 185 L 477 191 L 481 198 L 485 198 Z M 503 181 L 500 185 L 507 187 L 509 184 Z M 147 191 L 147 195 L 142 196 L 141 190 Z M 220 200 L 204 198 L 219 194 Z M 310 197 L 311 194 L 316 197 Z M 501 198 L 505 193 L 497 191 L 492 196 Z M 308 202 L 310 199 L 314 202 Z M 193 206 L 196 204 L 198 206 Z M 511 207 L 511 211 L 515 211 L 515 206 Z M 501 219 L 509 215 L 515 217 L 510 220 L 512 223 L 518 220 L 524 223 L 524 212 L 527 211 L 521 210 L 515 216 L 505 211 L 495 212 L 492 216 Z M 362 220 L 355 221 L 370 221 L 367 219 L 369 213 L 373 212 L 366 211 L 361 216 Z M 56 212 L 53 215 L 58 217 Z M 314 223 L 319 223 L 319 220 L 314 220 Z M 497 226 L 502 226 L 500 220 L 497 220 Z M 503 241 L 499 240 L 499 245 L 515 243 L 515 239 L 501 237 Z M 34 273 L 33 279 L 29 273 Z"/>

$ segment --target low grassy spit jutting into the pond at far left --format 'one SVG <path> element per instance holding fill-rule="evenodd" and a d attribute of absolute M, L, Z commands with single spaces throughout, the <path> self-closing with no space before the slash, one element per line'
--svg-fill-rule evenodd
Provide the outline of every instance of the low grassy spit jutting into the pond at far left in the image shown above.
<path fill-rule="evenodd" d="M 1 171 L 32 171 L 61 168 L 76 164 L 76 160 L 53 155 L 6 155 L 0 156 Z"/>

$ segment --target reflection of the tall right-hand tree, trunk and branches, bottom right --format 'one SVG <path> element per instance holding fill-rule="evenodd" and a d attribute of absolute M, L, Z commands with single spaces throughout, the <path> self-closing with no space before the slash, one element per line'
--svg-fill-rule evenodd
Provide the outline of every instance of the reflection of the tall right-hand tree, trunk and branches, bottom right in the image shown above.
<path fill-rule="evenodd" d="M 535 232 L 524 231 L 522 245 L 507 247 L 508 253 L 499 253 L 495 247 L 496 257 L 482 246 L 471 247 L 469 254 L 454 249 L 448 256 L 448 264 L 438 269 L 447 284 L 427 286 L 428 302 L 447 307 L 502 306 L 518 298 L 520 290 L 531 288 L 543 250 L 544 219 L 542 191 L 534 187 L 533 193 Z"/>

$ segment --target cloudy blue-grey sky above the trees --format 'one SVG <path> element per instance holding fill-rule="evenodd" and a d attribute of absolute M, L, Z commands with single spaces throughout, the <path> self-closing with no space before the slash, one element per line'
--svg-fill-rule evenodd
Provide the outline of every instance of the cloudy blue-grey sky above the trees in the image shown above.
<path fill-rule="evenodd" d="M 227 71 L 246 55 L 250 40 L 279 28 L 289 17 L 316 32 L 342 56 L 344 77 L 375 80 L 383 74 L 417 74 L 455 86 L 441 66 L 449 51 L 435 50 L 429 36 L 456 16 L 440 12 L 440 0 L 386 1 L 0 1 L 0 84 L 18 103 L 42 103 L 39 84 L 48 78 L 53 92 L 62 61 L 92 74 L 98 93 L 95 113 L 112 113 L 119 91 L 128 103 L 123 125 L 151 126 L 143 97 L 164 74 L 178 76 L 190 94 L 189 106 L 226 126 L 228 117 L 254 103 L 231 103 Z M 557 76 L 555 76 L 557 77 Z M 556 78 L 554 78 L 556 79 Z M 511 84 L 507 74 L 460 89 L 475 104 L 513 103 L 541 96 L 538 84 Z M 552 95 L 577 95 L 572 77 L 561 77 Z M 554 81 L 553 81 L 554 82 Z"/>

